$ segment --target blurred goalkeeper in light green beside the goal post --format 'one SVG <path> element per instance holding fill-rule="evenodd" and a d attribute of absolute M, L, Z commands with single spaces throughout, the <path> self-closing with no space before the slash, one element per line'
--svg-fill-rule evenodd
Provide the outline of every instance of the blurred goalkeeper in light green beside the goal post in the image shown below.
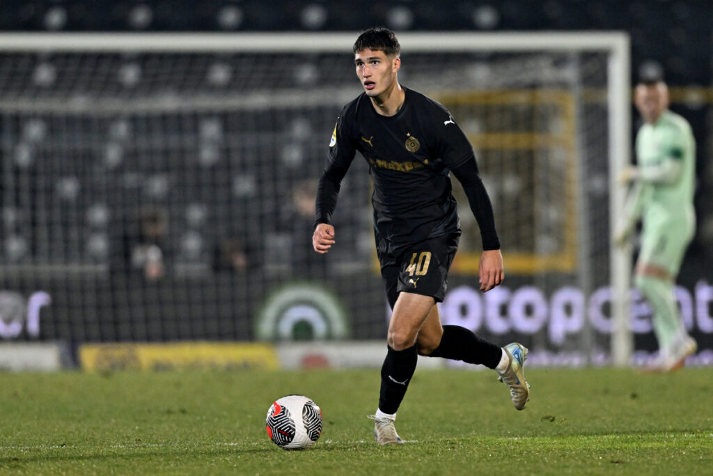
<path fill-rule="evenodd" d="M 652 370 L 669 372 L 696 351 L 674 298 L 674 281 L 696 226 L 696 144 L 689 123 L 668 110 L 668 88 L 660 77 L 642 79 L 635 103 L 645 123 L 636 137 L 638 166 L 625 168 L 620 176 L 620 182 L 633 186 L 614 239 L 625 245 L 641 219 L 634 283 L 653 309 L 660 351 Z"/>

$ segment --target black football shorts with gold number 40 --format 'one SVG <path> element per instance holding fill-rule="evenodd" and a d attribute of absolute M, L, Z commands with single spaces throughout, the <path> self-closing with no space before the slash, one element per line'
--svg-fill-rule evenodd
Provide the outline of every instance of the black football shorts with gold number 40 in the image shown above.
<path fill-rule="evenodd" d="M 399 293 L 432 296 L 443 302 L 448 283 L 448 269 L 458 249 L 461 233 L 430 238 L 415 243 L 388 243 L 376 236 L 376 255 L 381 264 L 381 277 L 386 298 L 394 308 Z"/>

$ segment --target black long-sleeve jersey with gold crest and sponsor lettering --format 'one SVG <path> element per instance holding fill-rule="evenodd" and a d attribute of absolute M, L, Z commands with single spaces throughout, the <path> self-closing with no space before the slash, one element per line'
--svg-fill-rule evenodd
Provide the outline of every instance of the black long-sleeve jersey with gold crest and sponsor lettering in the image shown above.
<path fill-rule="evenodd" d="M 493 208 L 473 147 L 440 103 L 408 88 L 394 116 L 376 113 L 361 93 L 344 106 L 319 180 L 317 223 L 329 223 L 344 175 L 359 151 L 374 181 L 376 232 L 394 243 L 436 238 L 459 230 L 449 171 L 458 178 L 478 221 L 483 249 L 500 248 Z"/>

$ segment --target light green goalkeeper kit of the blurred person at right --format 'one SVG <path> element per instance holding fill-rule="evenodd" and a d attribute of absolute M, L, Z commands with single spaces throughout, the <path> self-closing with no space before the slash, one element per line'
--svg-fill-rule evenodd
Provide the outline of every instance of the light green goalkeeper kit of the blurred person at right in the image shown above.
<path fill-rule="evenodd" d="M 636 138 L 638 173 L 627 218 L 630 227 L 642 220 L 639 263 L 663 268 L 670 279 L 637 274 L 635 283 L 652 305 L 664 352 L 692 345 L 679 318 L 672 280 L 695 231 L 695 147 L 689 123 L 671 111 L 645 123 Z"/>

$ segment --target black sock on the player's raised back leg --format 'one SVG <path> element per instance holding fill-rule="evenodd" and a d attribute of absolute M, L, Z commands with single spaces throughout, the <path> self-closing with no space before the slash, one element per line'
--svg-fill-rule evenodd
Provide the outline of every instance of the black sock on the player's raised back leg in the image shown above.
<path fill-rule="evenodd" d="M 460 325 L 444 325 L 441 344 L 429 357 L 442 357 L 451 360 L 463 360 L 470 364 L 483 364 L 488 368 L 496 368 L 503 356 L 503 350 L 483 338 L 479 338 L 471 330 Z M 381 371 L 383 375 L 383 370 Z M 382 379 L 383 388 L 383 379 Z"/>

